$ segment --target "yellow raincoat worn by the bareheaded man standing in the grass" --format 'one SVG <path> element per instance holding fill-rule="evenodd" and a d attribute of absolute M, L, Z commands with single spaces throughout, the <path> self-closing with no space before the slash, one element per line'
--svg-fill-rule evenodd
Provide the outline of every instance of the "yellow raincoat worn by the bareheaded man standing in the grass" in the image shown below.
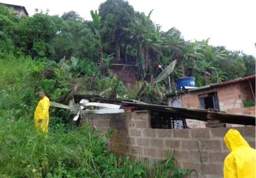
<path fill-rule="evenodd" d="M 35 130 L 38 132 L 41 130 L 44 133 L 48 132 L 48 123 L 49 123 L 49 107 L 50 107 L 50 100 L 46 96 L 40 99 L 36 109 L 35 109 Z M 38 123 L 38 120 L 42 119 L 43 121 Z"/>

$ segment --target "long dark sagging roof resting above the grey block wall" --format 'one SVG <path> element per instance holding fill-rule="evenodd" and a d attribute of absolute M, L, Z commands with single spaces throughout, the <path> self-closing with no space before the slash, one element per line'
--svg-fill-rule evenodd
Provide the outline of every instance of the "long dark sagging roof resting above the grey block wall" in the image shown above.
<path fill-rule="evenodd" d="M 220 123 L 228 124 L 239 124 L 239 125 L 256 125 L 256 119 L 253 115 L 242 115 L 242 114 L 228 114 L 223 112 L 213 112 L 209 110 L 199 110 L 190 108 L 178 108 L 171 106 L 162 105 L 152 105 L 136 100 L 121 100 L 114 98 L 102 98 L 98 95 L 76 95 L 73 94 L 75 102 L 79 102 L 81 99 L 88 99 L 92 102 L 105 102 L 112 104 L 120 104 L 121 108 L 125 106 L 134 106 L 134 110 L 149 110 L 149 111 L 159 111 L 165 112 L 167 114 L 173 115 L 174 117 L 184 118 L 184 119 L 194 119 L 199 121 L 207 120 L 219 120 Z"/>

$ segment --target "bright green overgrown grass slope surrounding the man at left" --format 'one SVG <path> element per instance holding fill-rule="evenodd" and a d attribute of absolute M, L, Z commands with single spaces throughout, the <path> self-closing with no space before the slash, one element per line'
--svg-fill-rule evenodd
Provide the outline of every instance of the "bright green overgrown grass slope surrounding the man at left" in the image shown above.
<path fill-rule="evenodd" d="M 47 139 L 43 133 L 35 133 L 36 92 L 43 89 L 51 101 L 58 102 L 68 90 L 71 76 L 54 68 L 47 78 L 43 71 L 48 66 L 30 57 L 0 59 L 0 177 L 180 178 L 190 173 L 174 166 L 173 152 L 155 164 L 139 158 L 133 162 L 130 157 L 116 160 L 103 139 L 112 131 L 103 134 L 88 123 L 80 128 L 71 126 L 65 110 L 50 109 Z M 116 81 L 112 78 L 109 82 Z M 122 85 L 118 90 L 123 90 Z"/>

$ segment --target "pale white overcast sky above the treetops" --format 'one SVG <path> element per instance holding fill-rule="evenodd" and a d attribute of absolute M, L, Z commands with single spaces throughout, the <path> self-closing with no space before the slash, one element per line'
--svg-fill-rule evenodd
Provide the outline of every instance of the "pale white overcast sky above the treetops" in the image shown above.
<path fill-rule="evenodd" d="M 0 0 L 1 3 L 25 6 L 29 15 L 35 8 L 50 9 L 50 15 L 74 10 L 91 20 L 90 10 L 105 0 Z M 211 45 L 243 50 L 256 56 L 256 0 L 128 0 L 135 11 L 154 9 L 151 19 L 162 30 L 176 27 L 186 40 L 210 38 Z"/>

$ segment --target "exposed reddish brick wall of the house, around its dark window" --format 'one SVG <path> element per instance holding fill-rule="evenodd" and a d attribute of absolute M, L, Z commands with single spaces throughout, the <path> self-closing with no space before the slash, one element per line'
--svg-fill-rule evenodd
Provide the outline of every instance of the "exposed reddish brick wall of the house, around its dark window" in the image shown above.
<path fill-rule="evenodd" d="M 239 91 L 238 91 L 239 88 Z M 248 81 L 241 83 L 233 83 L 221 87 L 209 88 L 199 91 L 193 91 L 188 94 L 184 94 L 181 97 L 181 104 L 184 108 L 200 109 L 199 95 L 217 91 L 219 98 L 220 110 L 233 114 L 249 114 L 255 115 L 255 106 L 244 108 L 243 102 L 247 99 L 254 101 L 251 88 Z M 236 100 L 237 98 L 237 100 Z M 170 105 L 170 104 L 169 104 Z M 242 106 L 242 108 L 241 108 Z M 232 111 L 233 110 L 233 111 Z M 187 126 L 189 128 L 206 128 L 205 121 L 197 121 L 186 119 Z M 244 125 L 227 124 L 227 127 L 238 127 Z"/>

